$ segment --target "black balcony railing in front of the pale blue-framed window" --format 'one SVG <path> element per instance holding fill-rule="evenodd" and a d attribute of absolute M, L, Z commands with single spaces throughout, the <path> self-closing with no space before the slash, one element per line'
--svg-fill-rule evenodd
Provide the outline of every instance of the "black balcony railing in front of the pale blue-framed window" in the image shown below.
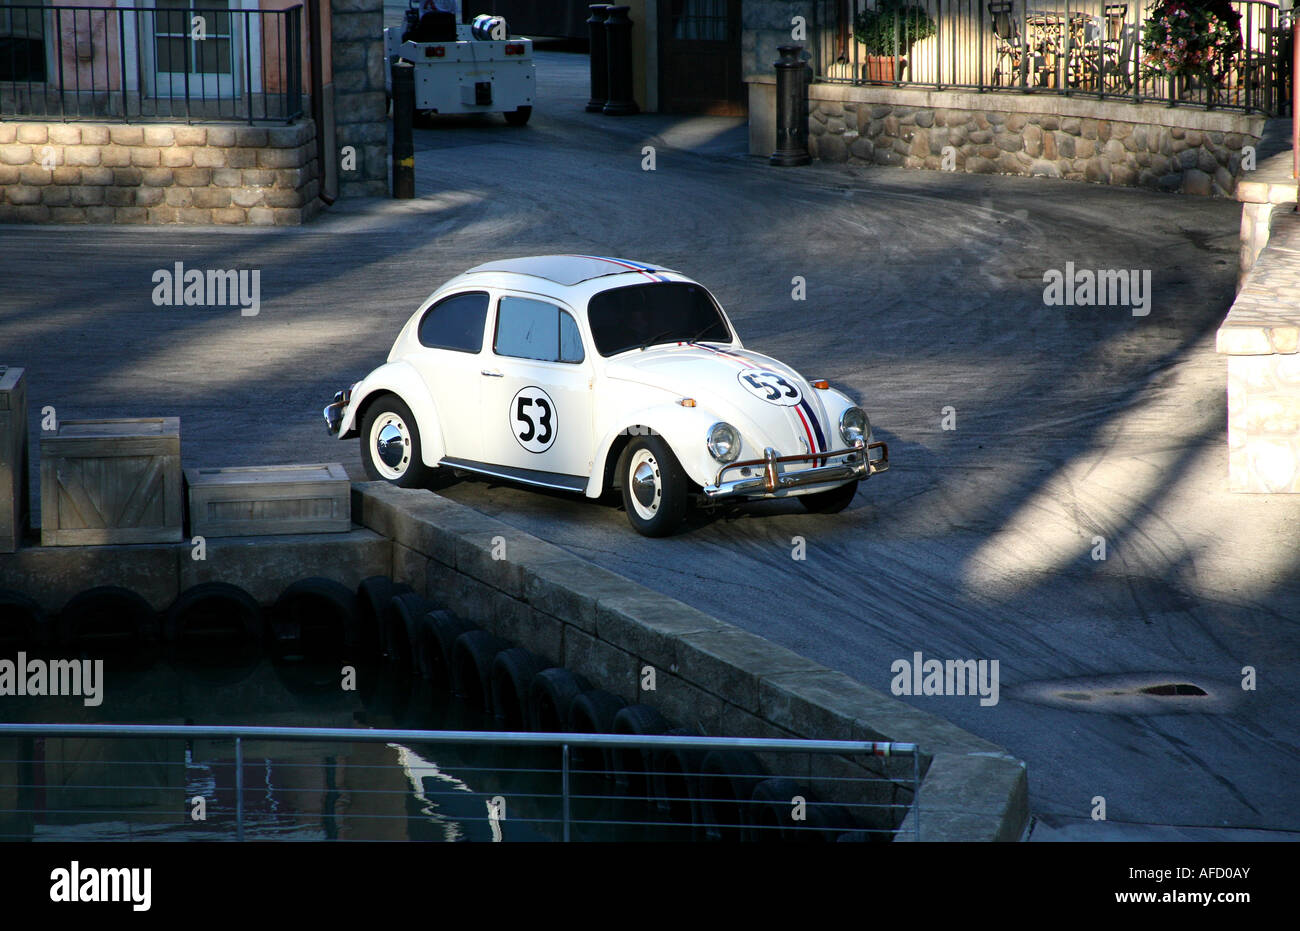
<path fill-rule="evenodd" d="M 0 118 L 252 124 L 302 116 L 300 5 L 156 3 L 0 0 Z"/>

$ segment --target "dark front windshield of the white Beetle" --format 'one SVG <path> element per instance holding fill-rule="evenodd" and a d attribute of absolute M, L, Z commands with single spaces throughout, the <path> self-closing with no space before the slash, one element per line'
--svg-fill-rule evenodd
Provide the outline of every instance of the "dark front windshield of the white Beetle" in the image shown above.
<path fill-rule="evenodd" d="M 586 306 L 595 351 L 602 356 L 654 343 L 732 341 L 712 296 L 699 285 L 666 281 L 612 287 Z"/>

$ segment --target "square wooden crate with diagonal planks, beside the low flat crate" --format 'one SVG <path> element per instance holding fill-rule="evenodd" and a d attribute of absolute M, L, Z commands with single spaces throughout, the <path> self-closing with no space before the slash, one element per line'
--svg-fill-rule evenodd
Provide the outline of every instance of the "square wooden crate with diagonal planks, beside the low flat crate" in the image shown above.
<path fill-rule="evenodd" d="M 40 436 L 43 546 L 182 540 L 181 420 L 64 420 Z"/>

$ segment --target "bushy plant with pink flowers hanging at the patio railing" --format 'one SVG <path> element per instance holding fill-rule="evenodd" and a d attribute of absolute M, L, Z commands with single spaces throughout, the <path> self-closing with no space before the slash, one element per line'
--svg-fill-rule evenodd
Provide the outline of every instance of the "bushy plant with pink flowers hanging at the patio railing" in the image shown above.
<path fill-rule="evenodd" d="M 1209 94 L 1242 52 L 1242 14 L 1227 0 L 1164 0 L 1143 23 L 1143 72 L 1199 81 Z"/>

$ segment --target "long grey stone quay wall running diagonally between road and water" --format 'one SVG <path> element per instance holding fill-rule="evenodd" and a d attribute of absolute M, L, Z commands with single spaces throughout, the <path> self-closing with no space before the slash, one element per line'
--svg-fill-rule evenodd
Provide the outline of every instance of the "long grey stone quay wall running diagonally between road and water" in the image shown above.
<path fill-rule="evenodd" d="M 919 744 L 922 840 L 1018 840 L 1028 824 L 1024 765 L 942 718 L 429 492 L 354 485 L 352 519 L 393 541 L 395 580 L 706 736 Z M 818 757 L 818 775 L 836 761 Z M 904 762 L 902 758 L 872 772 L 904 776 Z M 872 785 L 868 801 L 897 804 L 897 789 Z"/>

